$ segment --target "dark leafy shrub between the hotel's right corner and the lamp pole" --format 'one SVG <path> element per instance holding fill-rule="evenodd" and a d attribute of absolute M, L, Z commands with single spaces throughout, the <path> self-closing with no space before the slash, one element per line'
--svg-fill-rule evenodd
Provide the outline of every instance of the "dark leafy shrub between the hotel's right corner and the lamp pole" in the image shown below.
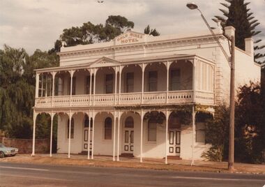
<path fill-rule="evenodd" d="M 208 118 L 205 125 L 205 142 L 212 144 L 211 149 L 202 154 L 206 160 L 222 161 L 224 147 L 229 140 L 229 110 L 225 105 L 215 107 L 214 118 Z"/>

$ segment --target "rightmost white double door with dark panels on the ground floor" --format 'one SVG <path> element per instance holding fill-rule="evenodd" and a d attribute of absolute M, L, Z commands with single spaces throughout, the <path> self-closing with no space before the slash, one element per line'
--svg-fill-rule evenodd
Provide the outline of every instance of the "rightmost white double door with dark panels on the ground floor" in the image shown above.
<path fill-rule="evenodd" d="M 181 131 L 169 129 L 169 156 L 180 156 L 181 154 Z"/>

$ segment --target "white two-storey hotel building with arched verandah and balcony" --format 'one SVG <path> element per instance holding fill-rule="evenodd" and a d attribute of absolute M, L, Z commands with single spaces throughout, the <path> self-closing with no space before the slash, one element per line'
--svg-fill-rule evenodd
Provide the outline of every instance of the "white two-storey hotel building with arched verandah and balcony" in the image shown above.
<path fill-rule="evenodd" d="M 229 53 L 222 31 L 215 34 Z M 236 86 L 260 78 L 253 40 L 245 46 L 236 49 Z M 61 47 L 59 57 L 59 67 L 36 70 L 33 155 L 36 117 L 43 112 L 58 115 L 57 149 L 68 157 L 83 152 L 167 163 L 171 156 L 202 159 L 211 147 L 203 116 L 213 117 L 213 106 L 228 103 L 230 75 L 211 33 L 128 31 L 107 43 Z"/>

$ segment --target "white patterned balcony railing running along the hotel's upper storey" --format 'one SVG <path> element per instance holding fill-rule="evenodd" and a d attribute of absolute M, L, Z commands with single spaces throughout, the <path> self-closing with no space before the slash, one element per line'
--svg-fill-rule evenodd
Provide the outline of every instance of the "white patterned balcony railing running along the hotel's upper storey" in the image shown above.
<path fill-rule="evenodd" d="M 36 98 L 35 107 L 133 106 L 200 103 L 214 104 L 214 93 L 205 91 L 156 91 L 119 94 L 54 96 Z"/>

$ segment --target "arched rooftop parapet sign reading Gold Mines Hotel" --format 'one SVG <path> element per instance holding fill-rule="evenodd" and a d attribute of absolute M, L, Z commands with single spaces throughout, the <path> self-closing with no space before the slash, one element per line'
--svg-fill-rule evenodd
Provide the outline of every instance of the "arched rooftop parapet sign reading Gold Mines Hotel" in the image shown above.
<path fill-rule="evenodd" d="M 144 42 L 145 34 L 128 31 L 115 38 L 116 45 Z"/>

